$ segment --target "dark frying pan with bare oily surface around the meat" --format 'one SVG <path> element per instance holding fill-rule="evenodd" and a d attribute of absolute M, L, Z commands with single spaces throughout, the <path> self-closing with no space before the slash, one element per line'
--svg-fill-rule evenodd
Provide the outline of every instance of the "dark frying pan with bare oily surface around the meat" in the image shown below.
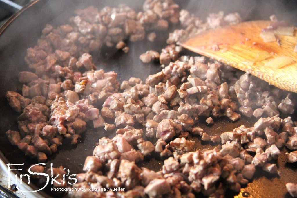
<path fill-rule="evenodd" d="M 205 19 L 208 13 L 218 12 L 223 10 L 225 13 L 238 12 L 243 20 L 258 20 L 268 19 L 270 15 L 275 14 L 279 20 L 288 21 L 296 25 L 297 18 L 297 2 L 294 0 L 286 1 L 244 1 L 244 0 L 208 0 L 208 1 L 176 1 L 181 8 L 189 10 L 201 19 Z M 18 114 L 15 113 L 9 106 L 5 93 L 7 91 L 19 91 L 20 84 L 17 82 L 17 76 L 20 71 L 29 70 L 24 62 L 26 49 L 34 47 L 37 44 L 37 39 L 41 35 L 42 29 L 46 23 L 54 26 L 68 23 L 68 18 L 72 16 L 73 11 L 78 8 L 84 8 L 94 5 L 99 9 L 104 6 L 116 6 L 119 3 L 126 3 L 132 9 L 140 11 L 142 9 L 143 1 L 95 1 L 95 0 L 37 0 L 25 6 L 15 15 L 13 15 L 0 28 L 0 158 L 7 164 L 22 164 L 25 174 L 26 169 L 31 164 L 37 164 L 37 161 L 25 157 L 24 154 L 15 146 L 12 146 L 5 135 L 8 129 L 17 130 L 16 118 Z M 169 31 L 172 31 L 172 27 Z M 145 80 L 150 74 L 161 70 L 159 65 L 150 63 L 143 64 L 139 60 L 139 55 L 149 49 L 160 51 L 166 46 L 166 38 L 168 33 L 157 33 L 157 40 L 154 43 L 148 41 L 141 41 L 135 43 L 128 43 L 130 50 L 127 54 L 122 51 L 105 51 L 104 56 L 93 53 L 93 59 L 98 68 L 105 71 L 116 71 L 118 73 L 118 80 L 128 80 L 131 76 Z M 165 37 L 164 37 L 165 35 Z M 191 54 L 184 51 L 184 54 Z M 193 54 L 192 54 L 193 55 Z M 285 116 L 285 115 L 282 115 Z M 296 121 L 297 115 L 293 115 L 293 120 Z M 204 125 L 201 120 L 200 127 L 213 135 L 220 134 L 224 131 L 231 131 L 240 125 L 247 125 L 251 127 L 255 123 L 255 119 L 248 119 L 242 117 L 237 122 L 230 122 L 227 119 L 221 118 L 215 120 L 213 126 L 208 127 Z M 92 151 L 103 136 L 112 137 L 113 134 L 105 132 L 102 129 L 89 129 L 83 133 L 82 138 L 76 145 L 71 145 L 65 140 L 63 145 L 58 148 L 58 152 L 49 157 L 47 166 L 53 163 L 55 167 L 64 166 L 71 171 L 72 174 L 80 173 L 82 171 L 83 163 L 88 155 L 92 155 Z M 198 137 L 191 137 L 195 140 L 195 148 L 213 148 L 213 144 L 201 143 Z M 287 150 L 282 149 L 282 154 L 278 159 L 278 167 L 280 171 L 279 176 L 269 175 L 261 171 L 256 171 L 255 177 L 247 186 L 243 186 L 239 194 L 227 192 L 227 197 L 290 197 L 286 193 L 285 184 L 287 182 L 297 183 L 297 166 L 296 164 L 286 164 L 284 153 Z M 162 159 L 151 156 L 146 158 L 141 164 L 147 168 L 158 171 L 162 168 Z M 36 186 L 43 186 L 40 180 L 31 180 Z M 34 187 L 37 188 L 38 187 Z M 49 186 L 49 185 L 48 185 Z M 49 188 L 45 190 L 48 194 L 42 196 L 53 196 Z M 63 195 L 61 195 L 63 196 Z M 55 195 L 56 197 L 56 195 Z"/>

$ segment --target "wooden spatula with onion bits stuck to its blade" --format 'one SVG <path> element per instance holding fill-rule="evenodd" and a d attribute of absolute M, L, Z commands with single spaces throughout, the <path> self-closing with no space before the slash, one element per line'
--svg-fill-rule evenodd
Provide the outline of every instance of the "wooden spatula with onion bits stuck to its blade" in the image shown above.
<path fill-rule="evenodd" d="M 184 48 L 203 56 L 251 73 L 280 89 L 297 92 L 297 31 L 294 36 L 275 36 L 277 41 L 264 43 L 261 30 L 271 21 L 248 21 L 236 25 L 223 26 L 196 35 L 181 42 Z M 216 49 L 215 49 L 216 48 Z M 270 58 L 253 62 L 255 57 L 267 51 Z M 265 67 L 266 62 L 279 56 L 289 56 L 293 62 L 281 68 Z"/>

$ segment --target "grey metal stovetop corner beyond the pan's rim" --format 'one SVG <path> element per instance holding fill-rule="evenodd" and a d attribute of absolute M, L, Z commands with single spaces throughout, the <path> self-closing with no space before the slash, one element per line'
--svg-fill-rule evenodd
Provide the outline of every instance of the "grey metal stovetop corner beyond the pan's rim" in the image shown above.
<path fill-rule="evenodd" d="M 15 12 L 18 11 L 18 8 L 23 7 L 32 0 L 0 0 L 0 26 L 10 18 Z M 15 3 L 15 5 L 12 5 Z"/>

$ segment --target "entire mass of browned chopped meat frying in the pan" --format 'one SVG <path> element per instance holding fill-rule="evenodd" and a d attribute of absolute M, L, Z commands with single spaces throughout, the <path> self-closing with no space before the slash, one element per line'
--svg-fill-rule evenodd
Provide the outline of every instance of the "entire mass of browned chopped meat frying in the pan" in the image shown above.
<path fill-rule="evenodd" d="M 21 113 L 18 131 L 6 132 L 8 140 L 45 162 L 65 138 L 76 144 L 87 122 L 113 134 L 113 139 L 99 140 L 73 187 L 125 190 L 75 191 L 71 197 L 195 197 L 200 192 L 223 197 L 226 189 L 238 192 L 246 185 L 256 166 L 278 174 L 280 149 L 285 145 L 297 150 L 296 123 L 278 117 L 294 113 L 295 95 L 203 56 L 180 57 L 183 38 L 240 21 L 237 13 L 224 17 L 219 12 L 203 23 L 179 11 L 172 0 L 147 0 L 138 13 L 126 5 L 100 11 L 89 7 L 77 10 L 70 24 L 47 25 L 37 45 L 27 50 L 31 71 L 18 75 L 21 94 L 6 94 L 10 106 Z M 127 52 L 124 40 L 143 40 L 151 32 L 147 38 L 153 41 L 154 31 L 178 22 L 185 29 L 170 33 L 165 48 L 140 55 L 143 62 L 159 60 L 159 73 L 145 81 L 131 77 L 120 85 L 115 72 L 97 70 L 91 52 L 104 46 Z M 197 127 L 198 117 L 213 124 L 223 116 L 236 121 L 241 115 L 259 120 L 253 127 L 242 125 L 216 135 Z M 189 134 L 221 142 L 222 147 L 193 151 Z M 138 167 L 154 155 L 165 158 L 162 171 Z M 296 162 L 295 151 L 287 159 Z M 54 169 L 54 176 L 58 174 L 64 174 L 63 167 Z M 296 194 L 294 184 L 287 188 Z"/>

